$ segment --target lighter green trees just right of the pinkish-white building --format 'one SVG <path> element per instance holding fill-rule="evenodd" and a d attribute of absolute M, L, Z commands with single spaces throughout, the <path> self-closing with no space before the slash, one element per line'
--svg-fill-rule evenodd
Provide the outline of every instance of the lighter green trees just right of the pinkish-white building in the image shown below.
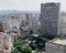
<path fill-rule="evenodd" d="M 22 52 L 22 50 L 23 50 L 23 44 L 26 44 L 28 43 L 28 41 L 25 41 L 25 40 L 16 40 L 15 42 L 13 42 L 13 46 L 16 49 L 16 50 L 19 50 L 20 52 Z"/>

